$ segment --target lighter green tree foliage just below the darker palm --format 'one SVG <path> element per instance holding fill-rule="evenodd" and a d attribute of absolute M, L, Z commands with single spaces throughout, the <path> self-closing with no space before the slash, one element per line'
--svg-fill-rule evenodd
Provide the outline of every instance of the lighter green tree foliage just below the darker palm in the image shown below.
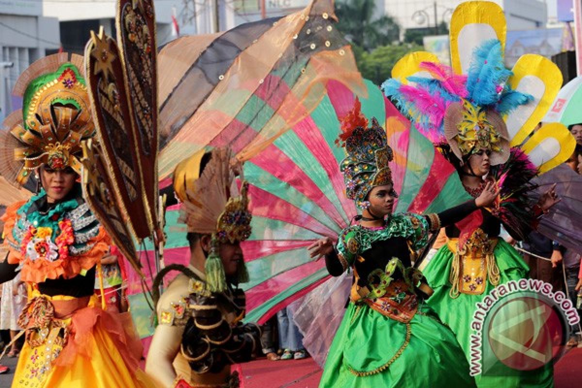
<path fill-rule="evenodd" d="M 381 85 L 391 77 L 392 67 L 396 62 L 409 52 L 423 51 L 424 48 L 417 44 L 399 44 L 379 46 L 372 52 L 366 52 L 361 48 L 353 47 L 356 63 L 362 76 Z"/>

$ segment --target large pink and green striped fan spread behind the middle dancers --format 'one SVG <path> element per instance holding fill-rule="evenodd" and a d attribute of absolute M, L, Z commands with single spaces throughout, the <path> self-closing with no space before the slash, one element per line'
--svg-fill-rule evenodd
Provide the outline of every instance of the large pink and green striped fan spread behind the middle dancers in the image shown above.
<path fill-rule="evenodd" d="M 441 211 L 469 199 L 455 169 L 432 143 L 398 113 L 377 86 L 370 81 L 364 84 L 368 97 L 361 98 L 362 111 L 368 119 L 379 118 L 385 125 L 395 154 L 393 180 L 400 193 L 397 211 Z M 329 82 L 325 97 L 307 118 L 244 164 L 253 212 L 253 233 L 242 244 L 250 273 L 250 282 L 242 284 L 248 321 L 266 321 L 329 277 L 324 261 L 309 258 L 307 246 L 324 236 L 335 239 L 357 214 L 354 203 L 345 196 L 339 171 L 345 150 L 335 144 L 340 119 L 355 100 L 356 94 L 349 88 Z M 166 265 L 184 264 L 189 259 L 178 212 L 179 205 L 166 211 Z M 151 249 L 148 245 L 150 255 Z M 145 276 L 153 275 L 145 267 Z M 139 278 L 131 273 L 129 286 L 130 294 L 141 292 Z M 147 317 L 142 318 L 142 325 L 147 326 Z"/>

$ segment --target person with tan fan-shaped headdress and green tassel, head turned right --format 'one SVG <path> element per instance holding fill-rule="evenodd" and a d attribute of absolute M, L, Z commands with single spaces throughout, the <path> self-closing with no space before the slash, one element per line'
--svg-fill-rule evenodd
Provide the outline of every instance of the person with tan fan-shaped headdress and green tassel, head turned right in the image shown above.
<path fill-rule="evenodd" d="M 162 387 L 239 387 L 230 365 L 249 361 L 261 349 L 260 330 L 243 324 L 245 298 L 238 284 L 248 281 L 240 242 L 251 233 L 247 184 L 239 195 L 228 149 L 204 149 L 174 172 L 182 201 L 180 222 L 187 225 L 190 265 L 171 265 L 178 275 L 157 302 L 158 326 L 146 371 Z"/>

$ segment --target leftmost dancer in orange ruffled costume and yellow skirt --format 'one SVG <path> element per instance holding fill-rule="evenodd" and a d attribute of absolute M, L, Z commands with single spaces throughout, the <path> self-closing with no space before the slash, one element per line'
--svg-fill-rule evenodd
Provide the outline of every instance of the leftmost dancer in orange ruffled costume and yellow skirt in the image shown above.
<path fill-rule="evenodd" d="M 26 341 L 12 387 L 153 387 L 139 368 L 139 341 L 93 295 L 95 271 L 110 239 L 84 202 L 80 142 L 94 134 L 83 57 L 66 53 L 33 63 L 16 82 L 23 109 L 9 115 L 0 172 L 38 193 L 4 216 L 6 261 L 0 282 L 20 272 L 29 302 L 19 318 Z M 97 267 L 97 268 L 96 268 Z"/>

